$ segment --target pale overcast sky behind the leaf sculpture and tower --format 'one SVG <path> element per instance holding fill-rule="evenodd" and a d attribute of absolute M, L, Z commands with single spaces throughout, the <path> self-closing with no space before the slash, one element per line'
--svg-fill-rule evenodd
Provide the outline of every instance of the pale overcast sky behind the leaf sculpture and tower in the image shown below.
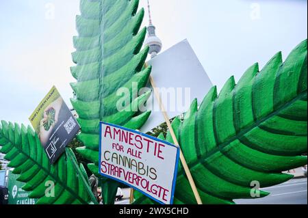
<path fill-rule="evenodd" d="M 255 62 L 264 66 L 277 51 L 286 57 L 307 38 L 307 1 L 151 0 L 151 5 L 164 50 L 188 38 L 218 88 L 232 74 L 238 81 Z M 76 14 L 79 0 L 0 1 L 0 120 L 29 124 L 53 85 L 70 105 Z"/>

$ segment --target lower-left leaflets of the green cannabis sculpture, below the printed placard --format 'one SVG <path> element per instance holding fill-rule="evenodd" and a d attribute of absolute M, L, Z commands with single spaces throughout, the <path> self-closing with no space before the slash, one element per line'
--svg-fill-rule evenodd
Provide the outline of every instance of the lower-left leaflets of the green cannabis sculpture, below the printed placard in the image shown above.
<path fill-rule="evenodd" d="M 14 167 L 14 174 L 20 174 L 18 181 L 25 182 L 23 189 L 30 191 L 29 197 L 37 198 L 36 204 L 88 204 L 90 197 L 81 176 L 78 176 L 74 163 L 68 155 L 75 156 L 71 150 L 50 165 L 47 154 L 38 136 L 31 127 L 18 126 L 2 121 L 0 124 L 0 152 Z M 82 176 L 88 176 L 80 165 Z M 51 187 L 53 182 L 54 187 Z M 53 188 L 54 195 L 45 195 L 47 188 Z"/>

